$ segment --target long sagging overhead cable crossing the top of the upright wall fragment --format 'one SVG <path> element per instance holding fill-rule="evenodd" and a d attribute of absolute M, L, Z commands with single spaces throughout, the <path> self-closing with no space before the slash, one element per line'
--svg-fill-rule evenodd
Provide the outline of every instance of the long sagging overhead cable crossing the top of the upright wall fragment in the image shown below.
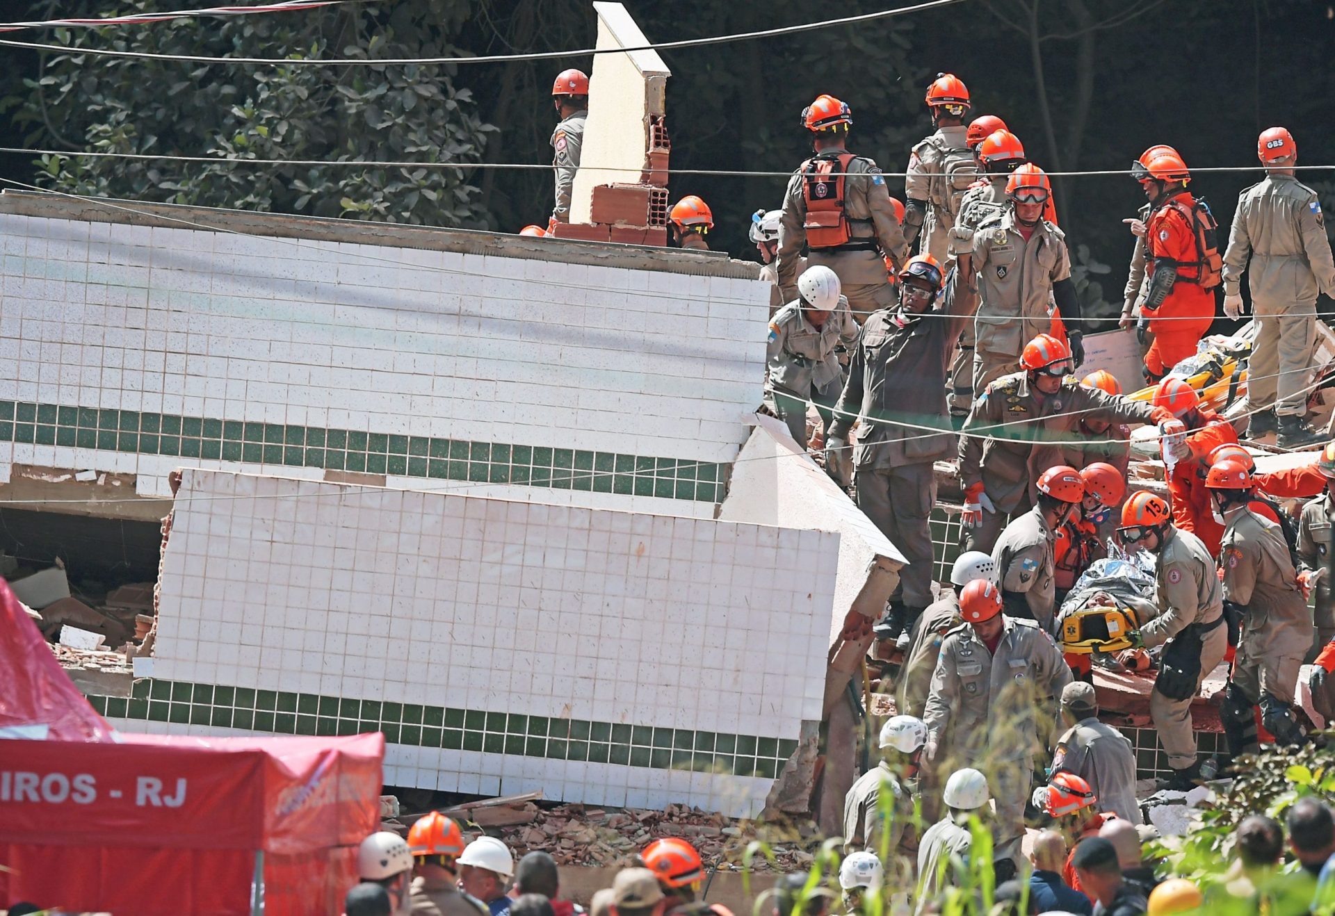
<path fill-rule="evenodd" d="M 478 57 L 343 57 L 343 59 L 311 59 L 311 57 L 212 57 L 206 55 L 168 55 L 152 53 L 148 51 L 116 51 L 113 48 L 76 48 L 65 44 L 41 44 L 36 41 L 15 41 L 0 39 L 0 44 L 13 48 L 31 48 L 35 51 L 60 51 L 75 55 L 97 55 L 103 57 L 129 57 L 139 60 L 180 60 L 192 64 L 256 64 L 280 67 L 386 67 L 386 65 L 453 65 L 453 64 L 499 64 L 519 60 L 553 60 L 557 57 L 583 57 L 599 53 L 626 53 L 633 51 L 669 51 L 673 48 L 700 48 L 710 44 L 726 44 L 730 41 L 749 41 L 752 39 L 768 39 L 778 35 L 794 35 L 797 32 L 812 32 L 834 25 L 853 25 L 869 23 L 877 19 L 890 19 L 906 13 L 947 7 L 963 0 L 926 0 L 912 7 L 898 7 L 896 9 L 881 9 L 874 13 L 860 16 L 844 16 L 841 19 L 822 19 L 801 25 L 784 25 L 781 28 L 768 28 L 756 32 L 734 32 L 733 35 L 713 35 L 702 39 L 682 39 L 680 41 L 658 41 L 633 48 L 578 48 L 574 51 L 541 51 L 533 53 L 505 53 L 485 55 Z"/>

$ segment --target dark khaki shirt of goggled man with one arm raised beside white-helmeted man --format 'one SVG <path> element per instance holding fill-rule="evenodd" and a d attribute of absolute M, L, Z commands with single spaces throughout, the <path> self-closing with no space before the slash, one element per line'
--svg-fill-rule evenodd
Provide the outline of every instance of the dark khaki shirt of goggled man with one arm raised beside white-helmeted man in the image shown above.
<path fill-rule="evenodd" d="M 888 308 L 866 319 L 829 430 L 846 437 L 853 421 L 862 421 L 853 449 L 857 467 L 917 465 L 951 454 L 953 433 L 933 435 L 917 427 L 951 429 L 945 374 L 975 302 L 952 272 L 934 310 L 906 323 Z M 913 426 L 896 426 L 896 419 Z"/>

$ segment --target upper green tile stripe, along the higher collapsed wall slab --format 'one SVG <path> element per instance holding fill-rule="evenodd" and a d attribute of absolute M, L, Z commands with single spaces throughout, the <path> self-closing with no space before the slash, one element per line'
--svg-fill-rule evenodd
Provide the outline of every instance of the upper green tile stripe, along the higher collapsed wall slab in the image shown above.
<path fill-rule="evenodd" d="M 722 502 L 726 465 L 0 401 L 0 442 Z"/>

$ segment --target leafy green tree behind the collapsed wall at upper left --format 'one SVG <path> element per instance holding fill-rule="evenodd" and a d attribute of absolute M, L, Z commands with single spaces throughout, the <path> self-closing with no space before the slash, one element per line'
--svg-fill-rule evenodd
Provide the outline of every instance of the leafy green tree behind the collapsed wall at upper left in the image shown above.
<path fill-rule="evenodd" d="M 39 4 L 45 15 L 55 3 Z M 71 15 L 59 4 L 59 15 Z M 97 4 L 91 4 L 97 5 Z M 134 0 L 121 12 L 166 8 Z M 87 11 L 85 11 L 87 12 Z M 354 4 L 295 13 L 72 32 L 25 80 L 31 139 L 71 151 L 234 159 L 411 162 L 402 168 L 238 166 L 45 156 L 43 184 L 72 194 L 242 210 L 481 227 L 475 170 L 495 128 L 454 67 L 199 64 L 103 57 L 84 47 L 248 57 L 443 57 L 465 0 Z M 459 167 L 431 167 L 459 163 Z"/>

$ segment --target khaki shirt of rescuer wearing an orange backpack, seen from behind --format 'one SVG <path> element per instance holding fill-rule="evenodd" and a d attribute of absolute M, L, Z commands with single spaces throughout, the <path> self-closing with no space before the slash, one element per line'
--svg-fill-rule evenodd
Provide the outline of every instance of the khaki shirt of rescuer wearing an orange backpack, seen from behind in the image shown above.
<path fill-rule="evenodd" d="M 802 163 L 805 166 L 806 163 Z M 908 260 L 908 242 L 904 228 L 894 218 L 889 188 L 880 167 L 858 156 L 848 164 L 844 179 L 844 214 L 849 220 L 852 238 L 849 242 L 874 240 L 881 252 L 889 255 L 896 264 Z M 796 298 L 792 292 L 797 286 L 798 255 L 806 244 L 806 198 L 802 195 L 802 168 L 793 172 L 784 195 L 784 216 L 778 224 L 778 254 L 774 260 L 778 270 L 778 284 L 785 298 Z M 841 283 L 888 283 L 889 274 L 885 260 L 877 251 L 838 251 L 836 248 L 814 248 L 808 254 L 808 264 L 825 264 Z"/>

